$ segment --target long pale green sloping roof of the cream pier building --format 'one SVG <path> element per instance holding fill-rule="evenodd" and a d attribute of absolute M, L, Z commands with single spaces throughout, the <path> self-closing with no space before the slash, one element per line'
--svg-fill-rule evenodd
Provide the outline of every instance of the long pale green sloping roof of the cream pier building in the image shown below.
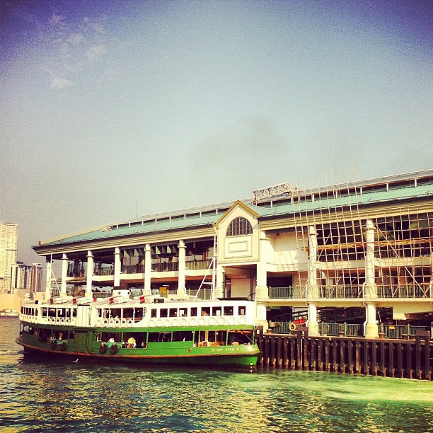
<path fill-rule="evenodd" d="M 420 200 L 433 196 L 433 170 L 388 176 L 359 183 L 347 183 L 330 187 L 300 190 L 296 195 L 282 195 L 253 204 L 252 200 L 241 200 L 256 214 L 258 219 L 289 216 L 299 212 L 316 212 L 323 209 L 338 209 L 348 206 L 364 207 L 386 202 Z M 235 202 L 182 209 L 179 211 L 151 214 L 141 219 L 110 224 L 105 227 L 69 234 L 47 241 L 40 247 L 59 246 L 69 243 L 122 238 L 146 233 L 161 233 L 180 229 L 212 227 Z"/>

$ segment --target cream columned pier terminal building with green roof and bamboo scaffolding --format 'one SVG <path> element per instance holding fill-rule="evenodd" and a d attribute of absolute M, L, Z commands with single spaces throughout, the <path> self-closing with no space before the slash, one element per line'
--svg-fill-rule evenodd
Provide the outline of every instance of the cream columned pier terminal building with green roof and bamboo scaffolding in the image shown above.
<path fill-rule="evenodd" d="M 152 214 L 40 241 L 62 261 L 61 294 L 108 288 L 185 298 L 257 301 L 258 324 L 303 316 L 430 325 L 433 320 L 433 171 L 300 189 Z M 214 291 L 211 290 L 214 287 Z M 47 289 L 47 292 L 49 290 Z M 48 294 L 50 296 L 50 294 Z"/>

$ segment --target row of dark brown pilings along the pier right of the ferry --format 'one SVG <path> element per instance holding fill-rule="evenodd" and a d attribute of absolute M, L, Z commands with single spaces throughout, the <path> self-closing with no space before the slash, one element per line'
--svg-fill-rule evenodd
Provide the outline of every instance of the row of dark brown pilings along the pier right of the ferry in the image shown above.
<path fill-rule="evenodd" d="M 258 366 L 432 380 L 433 342 L 429 332 L 412 340 L 310 337 L 308 328 L 290 335 L 259 334 Z"/>

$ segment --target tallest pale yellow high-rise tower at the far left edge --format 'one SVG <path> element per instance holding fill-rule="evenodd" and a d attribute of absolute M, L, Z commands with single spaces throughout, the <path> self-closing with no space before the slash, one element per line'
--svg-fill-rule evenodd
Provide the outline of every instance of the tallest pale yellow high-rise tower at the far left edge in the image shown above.
<path fill-rule="evenodd" d="M 11 289 L 11 272 L 17 253 L 18 224 L 0 221 L 0 293 Z"/>

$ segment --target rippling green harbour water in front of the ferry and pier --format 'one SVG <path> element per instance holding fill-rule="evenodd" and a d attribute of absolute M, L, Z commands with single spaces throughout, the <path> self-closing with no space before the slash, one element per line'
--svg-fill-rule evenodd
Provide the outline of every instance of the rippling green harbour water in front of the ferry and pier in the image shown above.
<path fill-rule="evenodd" d="M 35 362 L 0 318 L 0 432 L 433 432 L 433 383 Z"/>

